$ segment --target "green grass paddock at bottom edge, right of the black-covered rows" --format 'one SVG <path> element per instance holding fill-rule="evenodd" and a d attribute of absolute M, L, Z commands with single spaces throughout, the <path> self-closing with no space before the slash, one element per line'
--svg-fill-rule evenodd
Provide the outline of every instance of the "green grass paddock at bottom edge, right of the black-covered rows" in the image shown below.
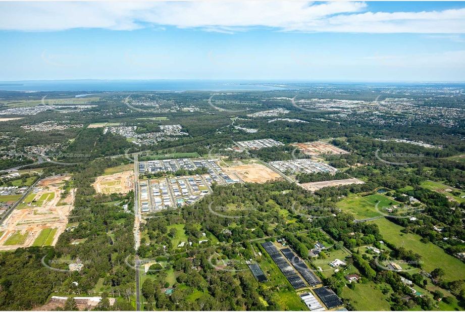
<path fill-rule="evenodd" d="M 342 288 L 342 298 L 350 299 L 351 305 L 357 311 L 390 311 L 389 294 L 384 295 L 380 288 L 388 288 L 392 293 L 391 286 L 386 283 L 376 285 L 374 282 L 367 284 L 356 284 L 355 289 L 348 287 Z"/>

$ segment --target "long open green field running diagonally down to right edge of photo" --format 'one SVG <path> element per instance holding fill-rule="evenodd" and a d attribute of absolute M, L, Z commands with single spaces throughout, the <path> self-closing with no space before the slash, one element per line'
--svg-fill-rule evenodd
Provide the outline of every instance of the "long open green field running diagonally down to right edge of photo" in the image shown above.
<path fill-rule="evenodd" d="M 404 234 L 400 230 L 403 227 L 396 225 L 386 218 L 370 221 L 377 224 L 384 240 L 397 246 L 404 246 L 407 250 L 413 250 L 422 255 L 425 271 L 431 272 L 436 268 L 444 268 L 446 274 L 444 280 L 454 281 L 465 279 L 465 264 L 459 259 L 447 254 L 443 249 L 433 243 L 424 244 L 420 242 L 420 236 L 416 234 Z"/>

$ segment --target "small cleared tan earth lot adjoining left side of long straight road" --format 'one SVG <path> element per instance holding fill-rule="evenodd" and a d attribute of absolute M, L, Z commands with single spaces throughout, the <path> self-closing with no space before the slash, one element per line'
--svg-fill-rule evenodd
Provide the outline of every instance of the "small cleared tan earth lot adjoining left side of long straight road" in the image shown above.
<path fill-rule="evenodd" d="M 97 193 L 126 194 L 134 187 L 134 171 L 127 170 L 111 175 L 99 176 L 95 179 L 95 183 L 92 186 Z"/>

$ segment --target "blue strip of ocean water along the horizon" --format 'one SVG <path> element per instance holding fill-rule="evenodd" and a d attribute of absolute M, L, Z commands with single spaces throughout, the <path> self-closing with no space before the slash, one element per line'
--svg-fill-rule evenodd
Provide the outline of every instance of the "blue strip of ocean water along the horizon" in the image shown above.
<path fill-rule="evenodd" d="M 226 80 L 29 80 L 0 82 L 6 91 L 266 91 L 286 89 L 271 81 Z"/>

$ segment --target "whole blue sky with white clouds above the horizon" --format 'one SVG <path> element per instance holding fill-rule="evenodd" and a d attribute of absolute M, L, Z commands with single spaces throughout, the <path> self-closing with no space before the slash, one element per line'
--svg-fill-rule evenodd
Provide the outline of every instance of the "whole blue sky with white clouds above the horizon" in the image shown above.
<path fill-rule="evenodd" d="M 464 81 L 465 3 L 0 3 L 0 81 Z"/>

